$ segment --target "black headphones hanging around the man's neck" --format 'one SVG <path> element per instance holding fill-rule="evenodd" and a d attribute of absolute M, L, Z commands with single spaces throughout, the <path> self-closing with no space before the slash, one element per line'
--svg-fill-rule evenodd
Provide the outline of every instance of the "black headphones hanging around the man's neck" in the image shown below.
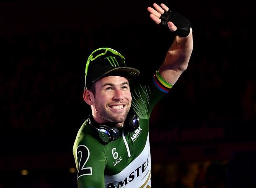
<path fill-rule="evenodd" d="M 89 115 L 89 125 L 90 127 L 96 131 L 99 134 L 99 137 L 101 140 L 105 142 L 111 142 L 117 140 L 119 137 L 120 133 L 117 127 L 115 126 L 109 126 L 113 125 L 113 123 L 105 123 L 103 124 L 98 124 L 98 123 L 93 119 L 92 115 Z M 109 125 L 107 125 L 109 124 Z M 133 132 L 139 127 L 139 118 L 137 117 L 136 113 L 132 110 L 129 111 L 127 114 L 125 123 L 124 123 L 124 129 L 128 132 Z"/>

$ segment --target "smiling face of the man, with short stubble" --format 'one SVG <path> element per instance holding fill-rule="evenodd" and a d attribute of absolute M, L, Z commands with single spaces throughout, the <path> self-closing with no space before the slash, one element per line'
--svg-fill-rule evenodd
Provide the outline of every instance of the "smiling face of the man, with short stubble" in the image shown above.
<path fill-rule="evenodd" d="M 95 83 L 92 114 L 98 123 L 125 122 L 131 107 L 129 82 L 125 77 L 107 76 Z"/>

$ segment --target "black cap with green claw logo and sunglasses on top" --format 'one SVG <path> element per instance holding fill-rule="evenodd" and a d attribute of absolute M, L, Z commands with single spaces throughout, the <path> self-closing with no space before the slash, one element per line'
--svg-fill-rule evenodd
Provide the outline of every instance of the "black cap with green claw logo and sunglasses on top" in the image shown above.
<path fill-rule="evenodd" d="M 124 56 L 118 51 L 112 48 L 98 48 L 94 50 L 87 59 L 84 88 L 90 88 L 94 82 L 113 72 L 129 80 L 139 76 L 137 69 L 126 66 Z"/>

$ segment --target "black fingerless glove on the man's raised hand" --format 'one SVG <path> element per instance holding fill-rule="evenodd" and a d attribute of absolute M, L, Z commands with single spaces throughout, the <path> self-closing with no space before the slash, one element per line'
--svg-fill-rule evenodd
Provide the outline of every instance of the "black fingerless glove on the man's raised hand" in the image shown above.
<path fill-rule="evenodd" d="M 190 21 L 184 16 L 174 12 L 174 11 L 165 11 L 164 14 L 160 16 L 161 22 L 160 26 L 168 27 L 167 22 L 171 21 L 177 27 L 177 30 L 173 34 L 178 35 L 179 37 L 186 37 L 190 33 Z"/>

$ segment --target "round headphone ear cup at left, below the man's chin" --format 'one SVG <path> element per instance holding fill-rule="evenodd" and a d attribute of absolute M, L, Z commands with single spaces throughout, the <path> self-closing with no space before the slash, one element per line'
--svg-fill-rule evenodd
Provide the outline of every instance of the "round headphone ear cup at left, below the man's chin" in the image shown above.
<path fill-rule="evenodd" d="M 107 125 L 100 125 L 99 137 L 105 142 L 115 141 L 119 137 L 119 130 L 116 127 L 109 127 Z"/>

